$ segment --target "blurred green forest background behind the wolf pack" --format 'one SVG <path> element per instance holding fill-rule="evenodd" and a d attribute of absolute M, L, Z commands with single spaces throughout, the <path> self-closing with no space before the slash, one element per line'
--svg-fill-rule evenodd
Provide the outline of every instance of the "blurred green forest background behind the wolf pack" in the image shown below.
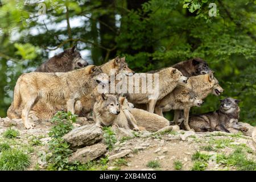
<path fill-rule="evenodd" d="M 201 57 L 225 92 L 192 113 L 230 96 L 242 100 L 240 120 L 255 125 L 255 8 L 253 0 L 0 0 L 0 117 L 20 74 L 77 44 L 89 63 L 126 56 L 136 72 Z"/>

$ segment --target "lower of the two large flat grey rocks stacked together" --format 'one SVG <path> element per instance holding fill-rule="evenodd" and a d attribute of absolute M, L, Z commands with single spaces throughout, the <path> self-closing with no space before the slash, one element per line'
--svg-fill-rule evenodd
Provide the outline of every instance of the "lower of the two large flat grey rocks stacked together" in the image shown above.
<path fill-rule="evenodd" d="M 104 155 L 106 151 L 106 146 L 102 143 L 96 143 L 92 146 L 79 148 L 72 154 L 72 156 L 69 157 L 69 162 L 80 162 L 85 164 Z"/>

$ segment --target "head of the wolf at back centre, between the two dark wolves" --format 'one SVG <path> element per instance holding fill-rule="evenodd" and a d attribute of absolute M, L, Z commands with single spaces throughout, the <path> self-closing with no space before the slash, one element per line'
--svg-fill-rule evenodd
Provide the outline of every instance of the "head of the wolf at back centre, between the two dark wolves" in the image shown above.
<path fill-rule="evenodd" d="M 123 73 L 126 76 L 133 76 L 135 73 L 128 67 L 128 64 L 125 61 L 125 57 L 115 57 L 114 66 L 118 73 Z"/>

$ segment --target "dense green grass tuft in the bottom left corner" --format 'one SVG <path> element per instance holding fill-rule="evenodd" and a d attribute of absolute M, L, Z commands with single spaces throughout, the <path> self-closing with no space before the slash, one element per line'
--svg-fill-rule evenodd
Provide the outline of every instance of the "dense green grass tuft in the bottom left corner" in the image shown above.
<path fill-rule="evenodd" d="M 30 166 L 30 158 L 22 150 L 4 150 L 0 155 L 0 170 L 18 171 Z"/>

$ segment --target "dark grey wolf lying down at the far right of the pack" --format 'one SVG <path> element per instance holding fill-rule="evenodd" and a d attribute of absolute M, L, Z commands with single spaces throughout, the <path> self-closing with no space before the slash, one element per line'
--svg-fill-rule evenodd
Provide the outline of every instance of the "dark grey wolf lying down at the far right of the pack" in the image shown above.
<path fill-rule="evenodd" d="M 229 128 L 234 128 L 246 132 L 248 129 L 238 123 L 240 100 L 225 98 L 221 100 L 220 109 L 210 113 L 191 115 L 189 126 L 198 132 L 203 131 L 225 131 L 229 133 Z"/>

